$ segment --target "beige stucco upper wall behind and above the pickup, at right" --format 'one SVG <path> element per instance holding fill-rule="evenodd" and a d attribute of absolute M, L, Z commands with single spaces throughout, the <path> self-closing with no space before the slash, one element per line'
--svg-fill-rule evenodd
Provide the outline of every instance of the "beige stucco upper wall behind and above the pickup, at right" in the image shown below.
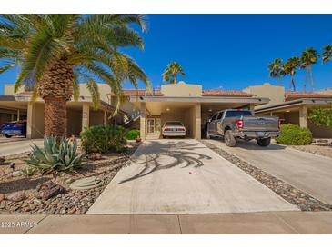
<path fill-rule="evenodd" d="M 285 102 L 285 88 L 279 85 L 251 85 L 243 89 L 243 92 L 257 97 L 267 97 L 270 99 L 268 105 Z M 263 105 L 259 105 L 260 107 Z"/>

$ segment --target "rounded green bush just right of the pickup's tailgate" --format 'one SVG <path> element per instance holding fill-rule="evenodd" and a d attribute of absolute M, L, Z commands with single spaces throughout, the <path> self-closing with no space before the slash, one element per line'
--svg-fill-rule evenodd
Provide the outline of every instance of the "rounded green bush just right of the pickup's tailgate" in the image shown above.
<path fill-rule="evenodd" d="M 312 142 L 312 134 L 307 128 L 296 124 L 282 124 L 281 134 L 276 138 L 278 144 L 307 145 Z"/>

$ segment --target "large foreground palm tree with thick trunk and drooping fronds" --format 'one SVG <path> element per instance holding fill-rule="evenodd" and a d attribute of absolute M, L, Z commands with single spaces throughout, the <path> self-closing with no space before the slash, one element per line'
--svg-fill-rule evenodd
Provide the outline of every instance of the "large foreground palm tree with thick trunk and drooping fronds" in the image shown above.
<path fill-rule="evenodd" d="M 129 25 L 146 30 L 144 15 L 0 15 L 0 73 L 15 66 L 15 92 L 30 85 L 45 102 L 45 135 L 66 135 L 66 102 L 79 96 L 85 81 L 95 107 L 96 81 L 123 99 L 124 81 L 148 85 L 146 74 L 121 47 L 140 47 L 143 40 Z M 119 108 L 119 103 L 116 111 Z"/>

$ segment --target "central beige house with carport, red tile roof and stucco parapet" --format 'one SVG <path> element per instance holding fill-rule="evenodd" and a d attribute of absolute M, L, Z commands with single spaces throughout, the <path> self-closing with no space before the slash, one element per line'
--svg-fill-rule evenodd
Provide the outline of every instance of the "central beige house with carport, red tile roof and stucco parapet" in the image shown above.
<path fill-rule="evenodd" d="M 182 122 L 187 137 L 200 139 L 203 126 L 216 111 L 226 108 L 254 111 L 256 105 L 269 101 L 241 91 L 203 90 L 202 85 L 185 82 L 161 85 L 160 90 L 125 90 L 125 94 L 127 101 L 135 106 L 131 108 L 139 111 L 142 139 L 159 138 L 166 121 Z"/>

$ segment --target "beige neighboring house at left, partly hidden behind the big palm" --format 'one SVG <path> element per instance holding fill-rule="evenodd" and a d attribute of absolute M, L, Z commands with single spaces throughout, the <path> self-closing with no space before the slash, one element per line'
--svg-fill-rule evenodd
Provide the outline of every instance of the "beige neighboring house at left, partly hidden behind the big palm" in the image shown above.
<path fill-rule="evenodd" d="M 78 101 L 67 103 L 67 135 L 78 135 L 88 126 L 96 124 L 123 124 L 126 112 L 120 110 L 118 115 L 109 118 L 115 110 L 108 97 L 110 87 L 99 85 L 101 105 L 97 110 L 93 108 L 91 95 L 85 84 L 80 85 Z M 31 92 L 22 87 L 17 94 L 14 85 L 5 85 L 5 95 L 0 95 L 0 124 L 8 121 L 27 120 L 26 136 L 39 138 L 44 135 L 44 101 L 38 98 L 31 101 Z"/>

